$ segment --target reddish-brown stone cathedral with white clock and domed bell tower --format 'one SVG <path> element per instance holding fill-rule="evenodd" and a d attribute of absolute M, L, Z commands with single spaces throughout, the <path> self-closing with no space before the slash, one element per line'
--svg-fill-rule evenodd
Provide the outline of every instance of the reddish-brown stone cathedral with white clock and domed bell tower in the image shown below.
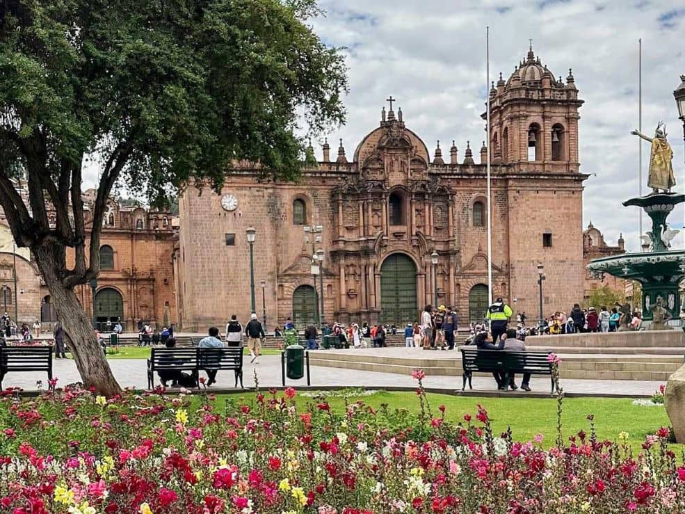
<path fill-rule="evenodd" d="M 436 300 L 452 305 L 462 326 L 483 319 L 486 145 L 493 295 L 535 319 L 544 273 L 545 313 L 583 299 L 588 175 L 579 172 L 583 100 L 571 70 L 556 79 L 531 48 L 508 79 L 500 74 L 490 90 L 489 141 L 476 159 L 470 143 L 461 158 L 454 142 L 446 155 L 440 142 L 430 152 L 411 129 L 410 109 L 395 111 L 393 102 L 354 152 L 340 141 L 332 160 L 326 142 L 317 162 L 310 145 L 298 183 L 259 182 L 243 162 L 219 195 L 198 184 L 184 189 L 174 255 L 184 328 L 222 326 L 232 314 L 248 319 L 252 303 L 270 330 L 288 317 L 298 326 L 316 319 L 403 326 Z"/>

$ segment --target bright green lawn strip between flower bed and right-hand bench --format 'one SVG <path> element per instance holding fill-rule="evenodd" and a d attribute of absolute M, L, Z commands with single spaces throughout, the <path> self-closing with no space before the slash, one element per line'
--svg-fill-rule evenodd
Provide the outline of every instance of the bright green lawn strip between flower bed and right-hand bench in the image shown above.
<path fill-rule="evenodd" d="M 373 408 L 379 408 L 383 403 L 390 409 L 408 409 L 419 412 L 419 401 L 413 392 L 385 392 L 381 391 L 370 396 L 353 396 L 354 389 L 350 389 L 349 402 L 362 400 Z M 329 392 L 330 393 L 330 392 Z M 298 392 L 296 401 L 298 407 L 304 408 L 307 403 L 317 403 L 312 397 L 302 396 Z M 308 393 L 307 393 L 308 394 Z M 320 394 L 325 396 L 327 392 Z M 340 392 L 337 392 L 340 394 Z M 223 406 L 227 398 L 245 396 L 247 401 L 254 399 L 253 394 L 225 394 L 218 395 L 217 402 Z M 532 440 L 535 435 L 545 435 L 543 444 L 552 446 L 556 440 L 556 399 L 546 398 L 488 398 L 464 397 L 448 394 L 428 394 L 433 417 L 438 417 L 439 405 L 445 405 L 445 417 L 451 421 L 460 421 L 466 413 L 472 415 L 474 421 L 477 404 L 480 403 L 487 410 L 492 420 L 492 428 L 496 435 L 506 431 L 511 426 L 515 440 Z M 331 408 L 342 412 L 345 402 L 342 397 L 328 398 Z M 661 426 L 670 426 L 666 409 L 662 406 L 645 407 L 633 405 L 632 399 L 607 398 L 567 398 L 563 402 L 563 432 L 565 437 L 575 435 L 583 430 L 590 432 L 588 415 L 594 415 L 595 429 L 599 440 L 616 440 L 620 432 L 629 433 L 628 442 L 636 451 L 645 435 L 656 432 Z M 673 444 L 676 453 L 685 450 L 685 445 Z"/>

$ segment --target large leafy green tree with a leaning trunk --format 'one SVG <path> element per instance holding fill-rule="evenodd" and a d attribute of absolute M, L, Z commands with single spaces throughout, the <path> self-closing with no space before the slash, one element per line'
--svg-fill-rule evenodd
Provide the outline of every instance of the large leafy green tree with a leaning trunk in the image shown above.
<path fill-rule="evenodd" d="M 297 177 L 297 120 L 312 134 L 344 121 L 344 59 L 307 25 L 317 14 L 314 0 L 0 3 L 0 204 L 35 256 L 87 387 L 120 391 L 74 294 L 97 277 L 113 186 L 154 204 L 191 179 L 218 190 L 239 159 L 259 162 L 265 178 Z M 87 240 L 81 182 L 92 154 L 104 166 Z"/>

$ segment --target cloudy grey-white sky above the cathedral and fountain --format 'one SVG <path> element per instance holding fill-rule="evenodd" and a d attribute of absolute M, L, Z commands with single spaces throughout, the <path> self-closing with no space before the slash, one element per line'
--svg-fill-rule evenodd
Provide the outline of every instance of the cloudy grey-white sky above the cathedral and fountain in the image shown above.
<path fill-rule="evenodd" d="M 316 31 L 346 47 L 348 122 L 328 139 L 335 157 L 343 138 L 350 158 L 360 138 L 378 125 L 388 95 L 398 99 L 409 128 L 431 152 L 456 140 L 474 154 L 483 140 L 485 27 L 490 26 L 490 70 L 505 79 L 533 50 L 556 77 L 573 69 L 585 100 L 580 120 L 581 171 L 586 181 L 583 223 L 590 220 L 615 244 L 623 232 L 639 249 L 638 208 L 620 202 L 638 194 L 638 39 L 643 40 L 643 132 L 664 120 L 683 191 L 682 125 L 672 91 L 685 73 L 685 3 L 682 0 L 321 0 L 326 16 Z M 474 144 L 475 142 L 475 144 Z M 643 144 L 643 175 L 650 147 Z M 321 150 L 317 150 L 321 159 Z M 476 157 L 477 161 L 477 157 Z M 646 185 L 643 191 L 647 192 Z M 682 225 L 681 209 L 671 214 Z M 648 218 L 645 216 L 644 230 Z M 677 246 L 682 247 L 682 236 Z M 674 245 L 675 246 L 675 245 Z"/>

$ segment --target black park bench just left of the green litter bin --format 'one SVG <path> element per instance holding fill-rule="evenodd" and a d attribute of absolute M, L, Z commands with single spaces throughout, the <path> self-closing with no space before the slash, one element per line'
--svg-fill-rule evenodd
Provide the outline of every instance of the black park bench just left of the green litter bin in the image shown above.
<path fill-rule="evenodd" d="M 147 360 L 147 387 L 154 387 L 157 371 L 190 371 L 195 383 L 200 384 L 200 371 L 232 370 L 236 384 L 243 387 L 243 348 L 151 348 Z"/>

